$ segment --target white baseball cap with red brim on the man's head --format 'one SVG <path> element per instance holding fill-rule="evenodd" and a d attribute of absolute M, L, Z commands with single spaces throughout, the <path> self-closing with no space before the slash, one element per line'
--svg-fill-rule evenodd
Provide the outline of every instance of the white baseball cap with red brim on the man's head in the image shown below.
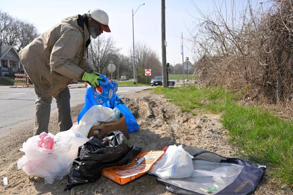
<path fill-rule="evenodd" d="M 104 12 L 102 9 L 91 9 L 89 10 L 89 15 L 92 17 L 92 19 L 96 20 L 97 22 L 100 23 L 101 28 L 105 32 L 111 32 L 108 23 L 109 23 L 109 17 L 106 12 Z"/>

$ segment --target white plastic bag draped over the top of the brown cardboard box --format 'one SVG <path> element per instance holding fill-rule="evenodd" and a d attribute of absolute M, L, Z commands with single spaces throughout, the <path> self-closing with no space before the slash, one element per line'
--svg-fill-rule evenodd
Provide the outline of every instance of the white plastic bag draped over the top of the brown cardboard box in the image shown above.
<path fill-rule="evenodd" d="M 94 125 L 99 125 L 100 122 L 111 122 L 116 120 L 116 112 L 111 108 L 102 105 L 92 106 L 80 119 L 78 125 L 74 125 L 71 129 L 88 137 L 89 130 Z"/>

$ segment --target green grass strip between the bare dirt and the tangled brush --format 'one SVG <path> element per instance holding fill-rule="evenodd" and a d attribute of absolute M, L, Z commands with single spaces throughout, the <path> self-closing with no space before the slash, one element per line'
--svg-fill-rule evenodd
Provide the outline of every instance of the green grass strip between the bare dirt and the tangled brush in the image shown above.
<path fill-rule="evenodd" d="M 281 119 L 257 106 L 237 104 L 237 96 L 219 87 L 157 87 L 182 112 L 222 113 L 221 122 L 230 140 L 244 153 L 239 155 L 268 165 L 273 178 L 293 187 L 293 122 Z"/>

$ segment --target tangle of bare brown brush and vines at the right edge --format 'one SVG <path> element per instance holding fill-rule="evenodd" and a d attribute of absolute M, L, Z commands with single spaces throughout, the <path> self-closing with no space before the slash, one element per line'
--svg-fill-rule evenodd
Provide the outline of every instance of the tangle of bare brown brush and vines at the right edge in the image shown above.
<path fill-rule="evenodd" d="M 200 69 L 202 86 L 225 85 L 245 89 L 245 96 L 285 102 L 293 97 L 293 4 L 268 0 L 252 7 L 248 0 L 240 11 L 232 1 L 214 1 L 214 10 L 200 13 L 190 42 Z M 289 103 L 289 104 L 288 104 Z"/>

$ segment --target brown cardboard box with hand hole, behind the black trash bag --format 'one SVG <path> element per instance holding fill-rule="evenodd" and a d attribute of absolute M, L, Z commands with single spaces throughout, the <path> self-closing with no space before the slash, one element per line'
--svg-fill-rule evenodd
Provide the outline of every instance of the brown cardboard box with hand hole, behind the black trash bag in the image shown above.
<path fill-rule="evenodd" d="M 92 126 L 92 128 L 89 130 L 88 138 L 95 136 L 99 140 L 102 140 L 104 137 L 106 137 L 107 133 L 116 130 L 121 131 L 123 135 L 129 139 L 125 116 L 122 113 L 121 118 L 118 121 L 101 122 L 99 125 Z"/>

